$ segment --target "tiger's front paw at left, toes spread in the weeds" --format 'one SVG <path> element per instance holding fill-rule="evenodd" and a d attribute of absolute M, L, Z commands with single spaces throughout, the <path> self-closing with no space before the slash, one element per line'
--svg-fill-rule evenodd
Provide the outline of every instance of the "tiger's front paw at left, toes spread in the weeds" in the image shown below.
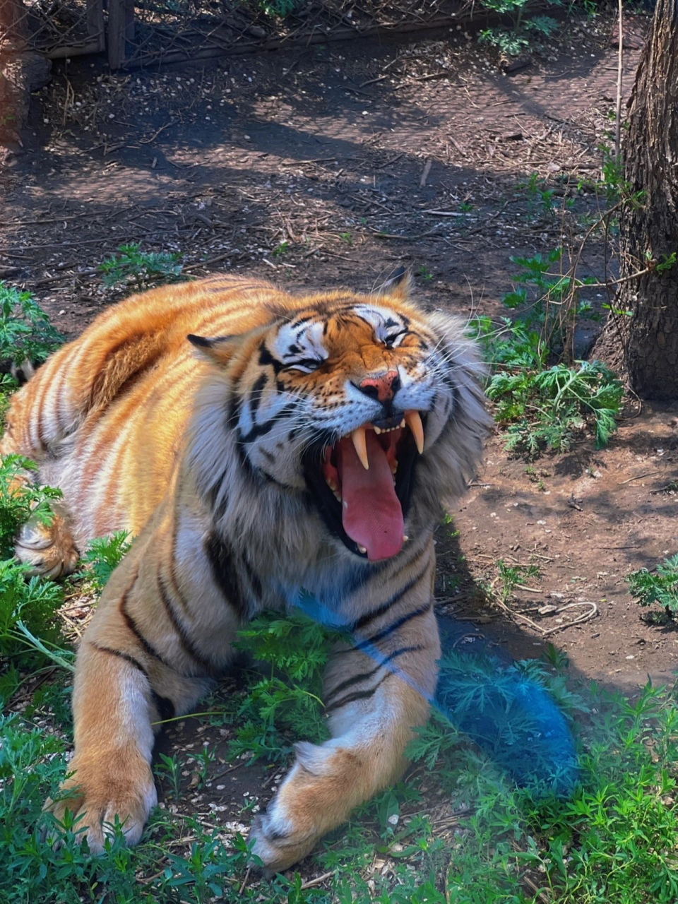
<path fill-rule="evenodd" d="M 114 834 L 111 826 L 116 816 L 127 844 L 137 844 L 157 803 L 153 775 L 146 762 L 111 764 L 102 758 L 96 766 L 87 766 L 79 765 L 74 757 L 71 767 L 73 775 L 60 789 L 64 796 L 56 801 L 48 797 L 42 809 L 52 812 L 59 822 L 63 822 L 66 810 L 71 810 L 74 831 L 87 838 L 93 854 L 103 853 L 106 838 Z"/>

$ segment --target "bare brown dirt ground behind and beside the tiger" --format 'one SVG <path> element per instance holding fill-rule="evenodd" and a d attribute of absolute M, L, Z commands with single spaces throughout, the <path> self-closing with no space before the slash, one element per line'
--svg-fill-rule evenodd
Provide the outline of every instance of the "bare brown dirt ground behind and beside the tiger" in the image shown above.
<path fill-rule="evenodd" d="M 581 214 L 601 203 L 587 185 L 598 180 L 614 104 L 612 27 L 570 22 L 558 44 L 508 75 L 457 29 L 160 73 L 60 64 L 33 99 L 26 153 L 0 176 L 0 278 L 33 290 L 69 335 L 121 297 L 96 268 L 124 241 L 181 252 L 193 275 L 224 268 L 302 291 L 369 290 L 405 264 L 424 304 L 496 315 L 511 257 L 562 240 L 531 177 L 555 198 L 582 183 Z M 633 27 L 642 33 L 641 20 Z M 637 59 L 625 53 L 626 97 Z M 615 272 L 614 260 L 607 266 Z M 589 245 L 580 275 L 604 278 L 605 267 L 602 246 Z M 581 349 L 597 328 L 583 328 Z M 642 619 L 625 576 L 678 551 L 667 489 L 676 423 L 678 403 L 636 406 L 606 449 L 584 440 L 534 473 L 490 439 L 453 513 L 458 536 L 438 532 L 440 609 L 468 624 L 464 643 L 485 639 L 521 658 L 552 643 L 574 675 L 626 691 L 648 674 L 671 679 L 678 634 Z M 497 560 L 541 568 L 511 612 L 474 588 L 494 579 Z M 166 749 L 221 745 L 190 722 L 168 733 Z M 193 805 L 240 824 L 233 808 L 245 790 L 266 797 L 270 780 L 236 770 Z"/>

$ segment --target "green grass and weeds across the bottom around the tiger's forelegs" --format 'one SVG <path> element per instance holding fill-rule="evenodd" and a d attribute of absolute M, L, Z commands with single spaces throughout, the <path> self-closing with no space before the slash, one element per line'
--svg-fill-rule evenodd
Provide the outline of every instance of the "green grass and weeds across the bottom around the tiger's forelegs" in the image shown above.
<path fill-rule="evenodd" d="M 242 644 L 263 653 L 261 661 L 274 668 L 291 663 L 297 669 L 303 657 L 296 636 L 281 634 L 278 621 L 260 619 Z M 305 629 L 313 640 L 317 627 Z M 493 758 L 433 713 L 410 747 L 412 776 L 363 805 L 305 865 L 306 879 L 332 872 L 327 888 L 302 889 L 299 874 L 263 883 L 251 876 L 241 899 L 540 904 L 546 895 L 551 904 L 673 904 L 678 893 L 675 689 L 647 685 L 633 702 L 595 685 L 573 692 L 567 662 L 554 651 L 551 665 L 525 668 L 550 690 L 577 731 L 581 776 L 570 799 L 535 796 L 515 786 Z M 269 669 L 264 672 L 265 679 L 252 671 L 240 692 L 205 703 L 212 725 L 238 731 L 243 711 L 259 712 L 260 720 L 253 720 L 259 736 L 272 719 L 284 742 L 292 707 L 295 731 L 313 737 L 318 713 L 307 716 L 306 704 L 295 694 L 272 711 L 264 698 L 261 712 L 259 683 L 270 680 Z M 297 673 L 298 691 L 314 694 L 314 682 L 315 665 L 306 675 Z M 284 693 L 277 681 L 272 688 Z M 474 696 L 478 690 L 474 680 L 467 692 Z M 68 822 L 61 850 L 42 845 L 40 831 L 50 820 L 42 815 L 43 799 L 68 770 L 69 740 L 61 737 L 61 726 L 56 733 L 42 727 L 45 704 L 51 711 L 61 699 L 56 693 L 43 697 L 42 710 L 38 705 L 23 716 L 8 716 L 0 727 L 0 899 L 31 904 L 240 899 L 247 844 L 240 834 L 224 836 L 218 826 L 206 827 L 191 815 L 182 787 L 186 763 L 178 752 L 161 755 L 155 775 L 179 812 L 156 809 L 136 849 L 126 850 L 118 838 L 105 857 L 90 860 L 78 843 L 77 825 Z M 285 717 L 276 721 L 283 711 Z M 507 730 L 508 724 L 502 731 Z M 280 768 L 271 744 L 258 741 L 252 752 Z M 215 768 L 221 770 L 212 749 L 195 760 L 201 785 Z M 250 815 L 242 818 L 247 823 Z M 375 858 L 388 869 L 372 871 Z"/>

